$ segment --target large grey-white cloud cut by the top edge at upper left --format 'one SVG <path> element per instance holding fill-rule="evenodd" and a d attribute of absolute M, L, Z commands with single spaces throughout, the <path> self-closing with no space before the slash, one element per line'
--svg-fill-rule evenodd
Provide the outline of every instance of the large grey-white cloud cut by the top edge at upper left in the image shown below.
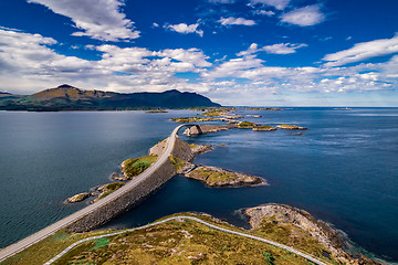
<path fill-rule="evenodd" d="M 90 36 L 101 41 L 126 41 L 139 38 L 134 22 L 126 19 L 119 11 L 124 6 L 122 0 L 28 0 L 40 3 L 54 13 L 71 18 L 75 26 L 82 31 L 74 32 L 75 36 Z"/>

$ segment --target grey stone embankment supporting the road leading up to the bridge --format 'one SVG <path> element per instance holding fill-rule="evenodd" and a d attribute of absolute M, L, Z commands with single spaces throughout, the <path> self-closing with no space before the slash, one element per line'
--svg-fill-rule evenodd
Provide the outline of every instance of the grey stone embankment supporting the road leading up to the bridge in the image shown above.
<path fill-rule="evenodd" d="M 150 153 L 160 155 L 160 152 L 165 151 L 166 149 L 165 145 L 165 140 L 159 142 L 150 149 Z M 176 139 L 176 145 L 174 147 L 174 150 L 171 151 L 171 156 L 182 159 L 185 161 L 190 161 L 193 159 L 193 153 L 189 145 L 178 138 Z M 166 160 L 166 162 L 164 162 L 158 170 L 156 170 L 149 178 L 142 181 L 139 186 L 136 186 L 122 197 L 77 220 L 76 222 L 67 226 L 66 230 L 69 232 L 81 233 L 91 231 L 108 222 L 116 215 L 133 208 L 143 199 L 159 189 L 176 173 L 176 168 L 172 166 L 170 160 Z"/>

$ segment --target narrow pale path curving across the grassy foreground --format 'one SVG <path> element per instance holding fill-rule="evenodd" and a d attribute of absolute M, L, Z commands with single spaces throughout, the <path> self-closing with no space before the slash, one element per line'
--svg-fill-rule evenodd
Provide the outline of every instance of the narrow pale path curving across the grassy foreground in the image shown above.
<path fill-rule="evenodd" d="M 294 250 L 294 248 L 292 248 L 292 247 L 290 247 L 290 246 L 282 245 L 282 244 L 280 244 L 280 243 L 276 243 L 276 242 L 273 242 L 273 241 L 269 241 L 269 240 L 265 240 L 265 239 L 255 236 L 255 235 L 244 234 L 244 233 L 235 232 L 235 231 L 232 231 L 232 230 L 223 229 L 223 227 L 220 227 L 220 226 L 217 226 L 217 225 L 207 223 L 207 222 L 205 222 L 205 221 L 202 221 L 202 220 L 200 220 L 200 219 L 191 218 L 191 216 L 174 216 L 174 218 L 168 218 L 168 219 L 161 220 L 161 221 L 156 222 L 156 223 L 147 224 L 147 225 L 139 226 L 139 227 L 135 227 L 135 229 L 125 230 L 125 231 L 122 231 L 122 232 L 116 232 L 116 233 L 106 234 L 106 235 L 97 235 L 97 236 L 87 237 L 87 239 L 84 239 L 84 240 L 81 240 L 81 241 L 77 241 L 77 242 L 73 243 L 72 245 L 70 245 L 69 247 L 66 247 L 63 252 L 61 252 L 60 254 L 57 254 L 56 256 L 54 256 L 53 258 L 51 258 L 49 262 L 44 263 L 44 265 L 50 265 L 50 264 L 52 264 L 53 262 L 55 262 L 56 259 L 59 259 L 60 257 L 62 257 L 63 255 L 65 255 L 67 252 L 70 252 L 71 250 L 73 250 L 76 245 L 78 245 L 78 244 L 81 244 L 81 243 L 83 243 L 83 242 L 86 242 L 86 241 L 97 240 L 97 239 L 107 237 L 107 236 L 113 236 L 113 235 L 118 235 L 118 234 L 126 233 L 126 232 L 128 232 L 128 231 L 147 229 L 147 227 L 150 227 L 150 226 L 154 226 L 154 225 L 157 225 L 157 224 L 166 223 L 166 222 L 171 221 L 171 220 L 185 220 L 185 219 L 189 219 L 189 220 L 199 222 L 199 223 L 205 224 L 205 225 L 207 225 L 207 226 L 209 226 L 209 227 L 211 227 L 211 229 L 219 230 L 219 231 L 222 231 L 222 232 L 226 232 L 226 233 L 230 233 L 230 234 L 234 234 L 234 235 L 239 235 L 239 236 L 244 236 L 244 237 L 248 237 L 248 239 L 251 239 L 251 240 L 261 241 L 261 242 L 264 242 L 264 243 L 274 245 L 274 246 L 279 246 L 279 247 L 284 248 L 284 250 L 286 250 L 286 251 L 289 251 L 289 252 L 292 252 L 292 253 L 294 253 L 294 254 L 297 254 L 298 256 L 302 256 L 302 257 L 304 257 L 305 259 L 311 261 L 311 262 L 313 262 L 313 263 L 315 263 L 315 264 L 318 264 L 318 265 L 327 265 L 326 263 L 323 263 L 323 262 L 321 262 L 321 261 L 318 261 L 318 259 L 310 256 L 308 254 L 305 254 L 305 253 L 302 253 L 302 252 L 300 252 L 300 251 L 296 251 L 296 250 Z"/>

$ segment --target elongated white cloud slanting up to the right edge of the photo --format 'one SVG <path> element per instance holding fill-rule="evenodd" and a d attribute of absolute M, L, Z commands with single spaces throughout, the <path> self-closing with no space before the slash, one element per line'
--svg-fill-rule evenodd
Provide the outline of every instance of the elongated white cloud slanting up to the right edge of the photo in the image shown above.
<path fill-rule="evenodd" d="M 338 66 L 394 53 L 398 53 L 398 34 L 391 39 L 357 43 L 352 49 L 327 54 L 323 60 L 328 61 L 326 66 Z"/>

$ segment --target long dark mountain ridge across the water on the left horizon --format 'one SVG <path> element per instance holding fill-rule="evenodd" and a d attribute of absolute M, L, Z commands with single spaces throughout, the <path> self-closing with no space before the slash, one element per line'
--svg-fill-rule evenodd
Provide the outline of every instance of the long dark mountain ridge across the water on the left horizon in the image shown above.
<path fill-rule="evenodd" d="M 17 96 L 0 93 L 0 109 L 3 110 L 90 110 L 90 109 L 143 109 L 218 107 L 217 103 L 197 93 L 176 89 L 163 93 L 116 93 L 85 91 L 61 85 L 33 95 Z"/>

